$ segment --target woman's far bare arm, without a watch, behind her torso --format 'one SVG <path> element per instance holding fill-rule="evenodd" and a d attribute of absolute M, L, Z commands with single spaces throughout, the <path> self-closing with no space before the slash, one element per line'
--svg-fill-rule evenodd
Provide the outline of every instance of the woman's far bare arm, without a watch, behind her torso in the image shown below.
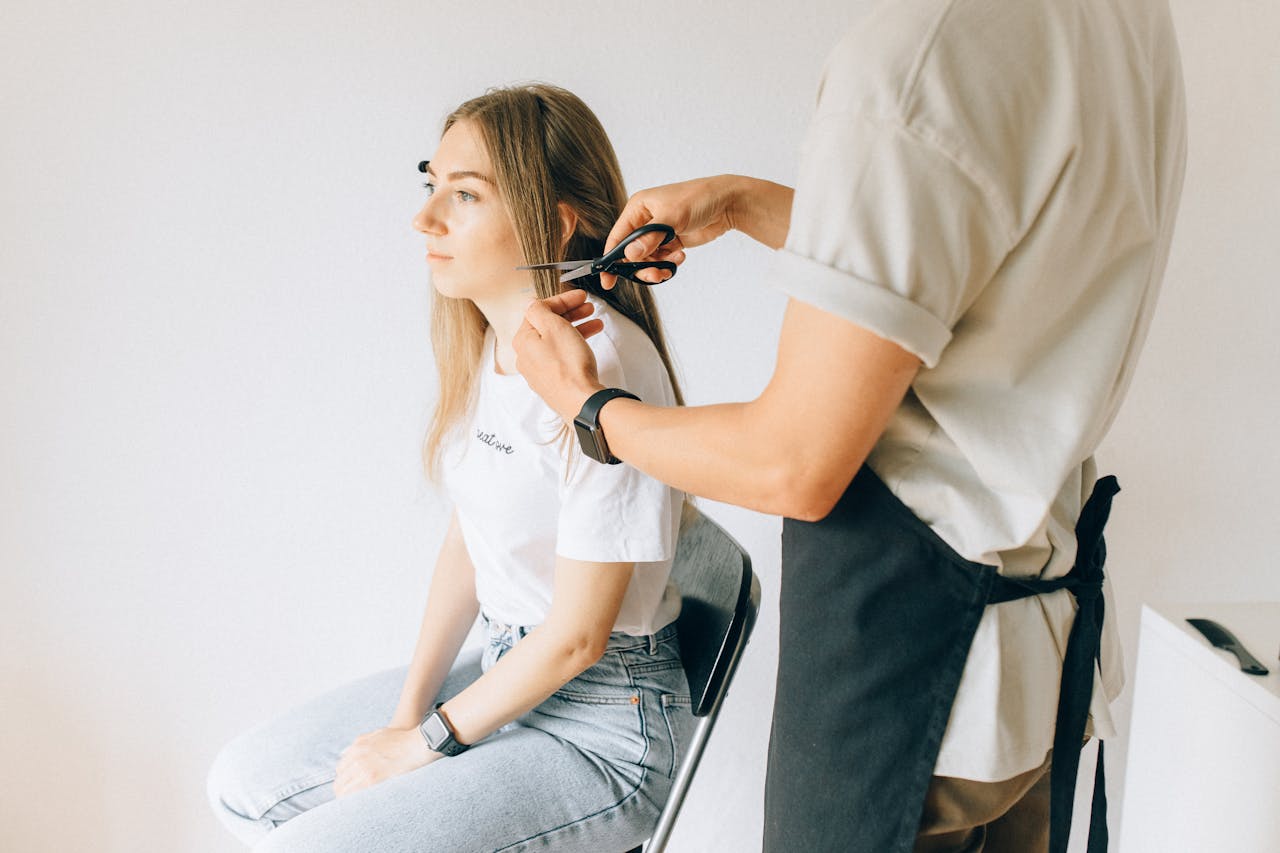
<path fill-rule="evenodd" d="M 454 512 L 435 560 L 417 646 L 389 727 L 413 729 L 428 715 L 479 611 L 475 567 Z"/>

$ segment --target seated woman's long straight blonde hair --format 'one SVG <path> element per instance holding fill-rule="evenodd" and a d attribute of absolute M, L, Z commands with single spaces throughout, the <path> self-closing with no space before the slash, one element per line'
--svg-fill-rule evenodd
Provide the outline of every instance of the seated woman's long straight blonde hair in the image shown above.
<path fill-rule="evenodd" d="M 531 83 L 492 88 L 453 110 L 444 132 L 468 122 L 480 133 L 493 163 L 494 182 L 511 215 L 526 263 L 544 264 L 567 257 L 598 257 L 604 238 L 622 213 L 627 193 L 613 145 L 595 114 L 572 92 Z M 577 214 L 577 225 L 561 255 L 559 202 Z M 684 394 L 649 288 L 620 278 L 612 291 L 598 275 L 559 283 L 556 270 L 532 270 L 538 298 L 577 286 L 630 318 L 662 356 L 676 402 Z M 476 377 L 489 321 L 467 298 L 433 292 L 431 348 L 440 379 L 439 400 L 422 444 L 422 461 L 433 479 L 439 476 L 440 452 L 462 426 L 475 402 Z"/>

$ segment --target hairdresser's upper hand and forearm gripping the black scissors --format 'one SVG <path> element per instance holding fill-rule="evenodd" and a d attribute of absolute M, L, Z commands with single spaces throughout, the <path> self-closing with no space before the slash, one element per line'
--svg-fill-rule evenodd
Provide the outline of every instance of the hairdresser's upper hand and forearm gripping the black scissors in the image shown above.
<path fill-rule="evenodd" d="M 627 246 L 627 260 L 667 260 L 685 263 L 685 250 L 709 243 L 724 232 L 741 231 L 771 248 L 780 248 L 791 223 L 794 191 L 769 181 L 721 174 L 681 183 L 641 190 L 631 196 L 613 231 L 604 240 L 604 251 L 622 242 L 640 225 L 660 222 L 676 229 L 676 237 L 660 245 L 662 234 L 644 234 Z M 648 282 L 663 280 L 658 270 L 643 270 Z M 617 278 L 600 274 L 609 289 Z"/>

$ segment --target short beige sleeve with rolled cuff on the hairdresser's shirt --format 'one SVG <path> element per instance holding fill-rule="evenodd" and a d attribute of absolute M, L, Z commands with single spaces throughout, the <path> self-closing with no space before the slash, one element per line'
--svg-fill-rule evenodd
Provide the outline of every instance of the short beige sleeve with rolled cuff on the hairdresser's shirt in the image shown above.
<path fill-rule="evenodd" d="M 772 275 L 932 368 L 1011 243 L 997 209 L 989 183 L 927 132 L 819 108 Z"/>

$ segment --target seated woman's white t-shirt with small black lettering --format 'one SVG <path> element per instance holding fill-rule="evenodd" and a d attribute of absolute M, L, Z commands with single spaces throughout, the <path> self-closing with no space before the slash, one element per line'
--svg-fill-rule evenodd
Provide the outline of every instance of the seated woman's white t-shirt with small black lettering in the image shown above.
<path fill-rule="evenodd" d="M 676 405 L 657 348 L 635 323 L 600 300 L 604 330 L 588 339 L 600 382 L 645 402 Z M 635 562 L 614 631 L 653 634 L 680 615 L 668 581 L 684 493 L 627 464 L 602 465 L 576 439 L 566 455 L 562 421 L 520 374 L 494 366 L 485 336 L 475 415 L 442 457 L 484 613 L 539 625 L 550 608 L 556 556 Z"/>

